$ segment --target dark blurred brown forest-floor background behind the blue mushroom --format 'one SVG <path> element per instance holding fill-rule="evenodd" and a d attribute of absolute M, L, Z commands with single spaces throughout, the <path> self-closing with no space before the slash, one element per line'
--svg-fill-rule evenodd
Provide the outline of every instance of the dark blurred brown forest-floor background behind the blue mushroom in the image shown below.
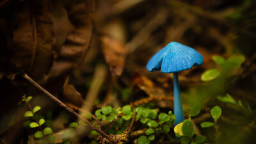
<path fill-rule="evenodd" d="M 22 95 L 35 97 L 31 103 L 42 107 L 42 115 L 52 113 L 54 131 L 76 120 L 22 73 L 68 106 L 92 113 L 145 97 L 170 97 L 172 75 L 148 72 L 145 66 L 173 41 L 204 56 L 202 66 L 179 74 L 185 114 L 198 102 L 204 104 L 201 116 L 218 105 L 223 109 L 220 143 L 256 143 L 254 0 L 1 0 L 1 142 L 31 141 L 31 130 L 22 125 L 28 110 Z M 220 66 L 212 56 L 228 62 Z M 220 76 L 202 81 L 211 68 Z M 227 93 L 244 108 L 217 99 Z M 172 109 L 171 102 L 157 106 Z M 211 143 L 214 129 L 198 127 Z M 77 137 L 90 142 L 87 135 Z"/>

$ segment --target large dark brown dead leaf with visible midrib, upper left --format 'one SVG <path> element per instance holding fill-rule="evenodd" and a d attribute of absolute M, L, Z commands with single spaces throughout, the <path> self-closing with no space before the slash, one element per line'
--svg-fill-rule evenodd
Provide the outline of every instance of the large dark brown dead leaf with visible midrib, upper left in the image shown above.
<path fill-rule="evenodd" d="M 51 9 L 49 1 L 23 1 L 17 11 L 17 27 L 13 31 L 12 63 L 31 73 L 38 80 L 43 79 L 52 65 Z"/>

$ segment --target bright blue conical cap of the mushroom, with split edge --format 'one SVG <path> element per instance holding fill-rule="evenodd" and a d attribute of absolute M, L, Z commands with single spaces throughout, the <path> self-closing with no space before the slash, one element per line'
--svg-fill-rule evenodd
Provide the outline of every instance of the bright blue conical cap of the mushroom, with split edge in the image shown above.
<path fill-rule="evenodd" d="M 161 70 L 164 73 L 179 72 L 202 65 L 203 56 L 195 49 L 171 42 L 158 51 L 147 64 L 150 72 Z"/>

